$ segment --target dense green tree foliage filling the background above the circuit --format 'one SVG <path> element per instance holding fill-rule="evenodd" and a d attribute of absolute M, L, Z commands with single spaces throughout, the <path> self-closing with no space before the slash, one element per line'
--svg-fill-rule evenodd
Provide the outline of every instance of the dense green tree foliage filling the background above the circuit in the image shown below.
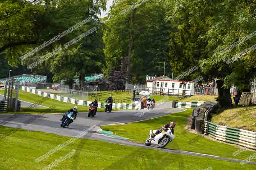
<path fill-rule="evenodd" d="M 100 19 L 98 15 L 100 10 L 106 10 L 106 0 L 1 1 L 0 55 L 8 59 L 9 65 L 29 65 L 84 31 L 99 26 L 97 31 L 31 72 L 51 72 L 53 81 L 66 78 L 71 83 L 74 76 L 79 76 L 83 82 L 84 75 L 90 73 L 111 76 L 123 61 L 127 72 L 125 81 L 144 84 L 146 75 L 164 74 L 166 59 L 165 75 L 170 76 L 173 71 L 175 78 L 198 66 L 199 69 L 183 80 L 193 80 L 199 75 L 204 81 L 217 80 L 218 100 L 224 101 L 224 106 L 231 105 L 230 86 L 236 85 L 241 91 L 250 89 L 256 73 L 255 50 L 233 63 L 227 61 L 254 45 L 256 37 L 232 49 L 225 48 L 255 31 L 254 0 L 149 0 L 122 14 L 134 3 L 135 0 L 114 1 L 108 16 Z M 92 21 L 35 56 L 19 61 L 18 56 L 89 16 L 93 17 Z"/>

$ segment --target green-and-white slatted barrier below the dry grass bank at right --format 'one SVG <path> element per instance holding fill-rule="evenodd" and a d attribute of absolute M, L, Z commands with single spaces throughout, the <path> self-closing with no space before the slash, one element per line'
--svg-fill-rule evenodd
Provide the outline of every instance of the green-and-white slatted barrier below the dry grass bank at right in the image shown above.
<path fill-rule="evenodd" d="M 205 122 L 204 135 L 256 150 L 256 132 Z"/>

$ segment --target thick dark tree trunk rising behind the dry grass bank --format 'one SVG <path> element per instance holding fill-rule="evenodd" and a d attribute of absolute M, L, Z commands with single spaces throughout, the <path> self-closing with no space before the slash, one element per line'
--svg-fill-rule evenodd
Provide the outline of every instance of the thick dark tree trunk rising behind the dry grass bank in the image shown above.
<path fill-rule="evenodd" d="M 220 105 L 222 107 L 232 107 L 230 88 L 224 89 L 222 87 L 224 84 L 222 80 L 217 80 L 216 84 L 217 84 L 218 93 L 219 93 L 217 101 L 220 102 Z"/>

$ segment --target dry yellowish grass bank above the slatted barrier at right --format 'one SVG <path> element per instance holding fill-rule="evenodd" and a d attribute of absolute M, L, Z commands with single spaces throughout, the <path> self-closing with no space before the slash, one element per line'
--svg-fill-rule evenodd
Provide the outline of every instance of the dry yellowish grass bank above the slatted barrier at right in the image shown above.
<path fill-rule="evenodd" d="M 256 106 L 248 106 L 247 111 L 244 106 L 226 109 L 218 115 L 213 115 L 212 122 L 256 132 Z"/>

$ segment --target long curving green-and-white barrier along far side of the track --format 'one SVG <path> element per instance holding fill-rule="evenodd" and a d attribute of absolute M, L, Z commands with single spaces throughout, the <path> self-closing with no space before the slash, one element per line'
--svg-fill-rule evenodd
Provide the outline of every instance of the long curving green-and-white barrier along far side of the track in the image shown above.
<path fill-rule="evenodd" d="M 58 95 L 52 94 L 52 93 L 41 92 L 36 89 L 32 89 L 32 88 L 25 87 L 25 86 L 22 86 L 21 90 L 30 92 L 30 93 L 33 93 L 33 94 L 36 94 L 39 96 L 48 97 L 50 99 L 59 100 L 59 101 L 72 103 L 72 104 L 76 104 L 76 105 L 81 105 L 81 106 L 89 106 L 92 103 L 92 101 L 85 101 L 85 100 L 72 99 L 69 97 L 62 97 L 62 96 L 58 96 Z M 140 101 L 132 101 L 132 103 L 113 103 L 113 105 L 112 105 L 113 109 L 118 108 L 118 109 L 138 109 L 139 110 L 140 107 L 141 107 Z M 105 108 L 105 103 L 99 103 L 99 108 Z"/>

